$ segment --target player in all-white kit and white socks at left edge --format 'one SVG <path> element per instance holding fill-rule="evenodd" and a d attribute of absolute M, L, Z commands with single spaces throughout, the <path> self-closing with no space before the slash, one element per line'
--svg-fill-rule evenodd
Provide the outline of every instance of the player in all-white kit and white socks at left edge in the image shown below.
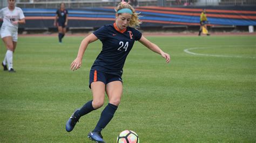
<path fill-rule="evenodd" d="M 14 73 L 12 56 L 18 41 L 18 24 L 25 24 L 25 16 L 22 9 L 15 6 L 15 0 L 8 0 L 8 7 L 0 10 L 0 18 L 3 19 L 1 38 L 7 48 L 2 66 L 5 71 Z"/>

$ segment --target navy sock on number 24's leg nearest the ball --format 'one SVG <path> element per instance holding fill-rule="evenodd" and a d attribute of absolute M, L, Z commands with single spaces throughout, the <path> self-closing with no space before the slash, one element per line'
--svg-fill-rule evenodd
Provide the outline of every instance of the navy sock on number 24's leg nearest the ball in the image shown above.
<path fill-rule="evenodd" d="M 114 116 L 114 112 L 116 112 L 117 106 L 113 104 L 107 104 L 105 109 L 102 111 L 102 115 L 100 115 L 98 124 L 96 125 L 95 129 L 93 132 L 101 132 L 102 129 L 109 124 L 110 120 Z"/>

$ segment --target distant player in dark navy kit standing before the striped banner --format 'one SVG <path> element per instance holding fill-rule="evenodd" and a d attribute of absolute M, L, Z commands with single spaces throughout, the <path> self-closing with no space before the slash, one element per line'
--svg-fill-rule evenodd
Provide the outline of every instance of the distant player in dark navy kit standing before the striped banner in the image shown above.
<path fill-rule="evenodd" d="M 66 33 L 66 26 L 68 25 L 68 10 L 65 9 L 65 4 L 60 3 L 60 9 L 56 11 L 54 26 L 58 26 L 59 42 L 62 43 L 62 38 Z"/>

